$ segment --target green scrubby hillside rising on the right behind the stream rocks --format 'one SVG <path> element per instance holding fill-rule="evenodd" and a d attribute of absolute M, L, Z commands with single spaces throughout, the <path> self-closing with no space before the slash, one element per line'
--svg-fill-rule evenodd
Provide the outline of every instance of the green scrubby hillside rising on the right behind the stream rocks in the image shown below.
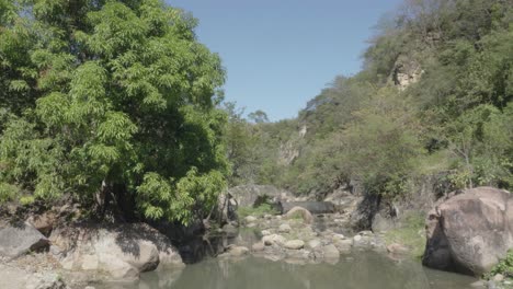
<path fill-rule="evenodd" d="M 423 176 L 513 187 L 513 1 L 407 0 L 377 28 L 362 71 L 296 118 L 228 109 L 231 184 L 318 197 L 351 185 L 388 199 Z"/>

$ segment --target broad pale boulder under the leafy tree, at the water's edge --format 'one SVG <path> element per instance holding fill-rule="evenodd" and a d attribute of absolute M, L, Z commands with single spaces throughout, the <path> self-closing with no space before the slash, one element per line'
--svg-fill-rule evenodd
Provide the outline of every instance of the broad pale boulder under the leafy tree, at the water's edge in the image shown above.
<path fill-rule="evenodd" d="M 103 274 L 110 280 L 138 278 L 158 266 L 183 262 L 167 236 L 144 223 L 57 228 L 52 243 L 65 269 Z"/>

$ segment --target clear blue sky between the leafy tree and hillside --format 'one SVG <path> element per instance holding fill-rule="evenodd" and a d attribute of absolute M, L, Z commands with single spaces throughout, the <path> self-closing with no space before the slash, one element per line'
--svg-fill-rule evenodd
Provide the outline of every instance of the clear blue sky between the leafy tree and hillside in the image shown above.
<path fill-rule="evenodd" d="M 167 0 L 200 20 L 227 69 L 227 101 L 295 117 L 338 74 L 360 71 L 374 25 L 401 0 Z"/>

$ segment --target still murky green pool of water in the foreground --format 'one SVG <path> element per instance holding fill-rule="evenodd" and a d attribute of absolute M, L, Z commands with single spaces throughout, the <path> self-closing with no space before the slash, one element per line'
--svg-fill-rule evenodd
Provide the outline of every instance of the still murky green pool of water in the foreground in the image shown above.
<path fill-rule="evenodd" d="M 463 289 L 474 278 L 424 269 L 410 261 L 395 262 L 373 252 L 342 256 L 335 265 L 293 265 L 248 257 L 207 259 L 187 265 L 180 275 L 149 273 L 126 289 Z M 109 287 L 112 288 L 112 287 Z"/>

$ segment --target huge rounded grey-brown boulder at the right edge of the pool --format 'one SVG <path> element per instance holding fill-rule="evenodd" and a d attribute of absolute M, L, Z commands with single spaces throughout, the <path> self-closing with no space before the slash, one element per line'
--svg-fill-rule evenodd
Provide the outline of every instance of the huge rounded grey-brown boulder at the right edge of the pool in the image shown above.
<path fill-rule="evenodd" d="M 513 196 L 478 187 L 440 201 L 426 235 L 424 265 L 480 276 L 513 248 Z"/>

